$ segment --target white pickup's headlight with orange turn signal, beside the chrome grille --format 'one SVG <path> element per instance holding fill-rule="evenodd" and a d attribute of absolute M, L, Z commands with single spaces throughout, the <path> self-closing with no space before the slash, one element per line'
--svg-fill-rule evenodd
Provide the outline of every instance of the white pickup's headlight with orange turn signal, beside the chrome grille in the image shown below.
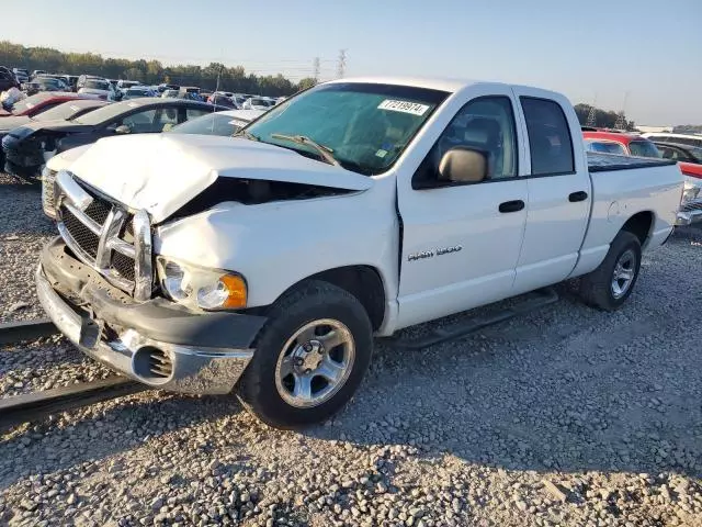
<path fill-rule="evenodd" d="M 204 269 L 157 257 L 158 277 L 163 293 L 191 309 L 237 310 L 246 307 L 247 287 L 236 272 Z"/>

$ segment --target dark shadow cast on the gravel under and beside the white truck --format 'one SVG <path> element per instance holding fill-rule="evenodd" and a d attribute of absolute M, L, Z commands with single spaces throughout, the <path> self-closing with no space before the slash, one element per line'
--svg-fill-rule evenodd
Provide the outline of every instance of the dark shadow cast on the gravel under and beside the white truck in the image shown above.
<path fill-rule="evenodd" d="M 661 273 L 672 267 L 690 268 L 678 250 L 689 257 L 697 249 L 682 238 L 671 244 L 675 250 L 656 272 L 642 274 L 619 312 L 584 306 L 569 284 L 559 288 L 557 304 L 458 341 L 419 351 L 377 343 L 353 403 L 332 422 L 299 434 L 361 446 L 409 445 L 420 461 L 454 456 L 514 471 L 701 478 L 702 323 L 694 294 L 686 293 L 702 290 L 701 277 L 666 280 Z M 171 395 L 125 399 L 100 419 L 84 411 L 68 429 L 42 425 L 0 442 L 5 456 L 32 460 L 31 471 L 0 462 L 0 486 L 132 449 L 147 435 L 194 434 L 199 424 L 240 412 L 234 397 Z M 231 436 L 249 426 L 258 425 L 236 416 L 234 424 L 207 428 L 213 436 L 206 440 L 246 441 Z"/>

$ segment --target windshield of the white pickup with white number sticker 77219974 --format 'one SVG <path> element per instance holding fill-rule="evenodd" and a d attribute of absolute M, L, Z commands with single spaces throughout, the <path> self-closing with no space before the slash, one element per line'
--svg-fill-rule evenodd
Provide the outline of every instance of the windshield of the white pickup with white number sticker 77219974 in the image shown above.
<path fill-rule="evenodd" d="M 308 145 L 272 135 L 303 135 L 349 170 L 387 170 L 449 93 L 395 85 L 321 85 L 274 106 L 247 127 L 256 138 L 321 159 Z M 253 102 L 253 101 L 251 101 Z"/>

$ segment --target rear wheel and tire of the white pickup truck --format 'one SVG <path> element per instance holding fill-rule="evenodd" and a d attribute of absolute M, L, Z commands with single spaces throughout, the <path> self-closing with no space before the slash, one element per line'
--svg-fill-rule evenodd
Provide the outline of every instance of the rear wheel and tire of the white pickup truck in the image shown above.
<path fill-rule="evenodd" d="M 623 264 L 623 267 L 618 268 L 618 264 Z M 587 304 L 603 311 L 619 310 L 632 294 L 639 270 L 641 242 L 632 233 L 620 231 L 600 267 L 580 280 L 580 298 Z M 614 284 L 615 271 L 620 277 L 629 276 L 623 271 L 632 273 L 629 280 L 618 280 L 619 289 Z"/>

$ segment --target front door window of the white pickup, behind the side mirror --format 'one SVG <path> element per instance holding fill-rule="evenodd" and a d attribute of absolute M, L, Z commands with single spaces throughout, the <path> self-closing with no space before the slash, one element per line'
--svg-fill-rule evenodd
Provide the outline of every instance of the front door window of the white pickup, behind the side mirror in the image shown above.
<path fill-rule="evenodd" d="M 442 157 L 454 147 L 485 154 L 486 180 L 516 177 L 517 133 L 509 98 L 484 97 L 463 106 L 419 166 L 412 179 L 414 188 L 445 186 L 445 181 L 439 180 L 439 166 Z"/>

